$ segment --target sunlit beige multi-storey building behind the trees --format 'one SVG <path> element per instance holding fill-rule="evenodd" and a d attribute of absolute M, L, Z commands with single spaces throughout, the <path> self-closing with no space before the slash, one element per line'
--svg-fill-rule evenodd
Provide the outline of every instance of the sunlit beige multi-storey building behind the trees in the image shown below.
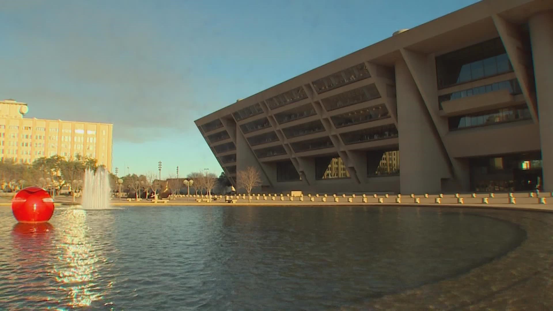
<path fill-rule="evenodd" d="M 76 154 L 96 158 L 98 165 L 112 168 L 113 125 L 24 118 L 26 103 L 0 101 L 0 159 L 33 163 L 36 158 Z"/>

